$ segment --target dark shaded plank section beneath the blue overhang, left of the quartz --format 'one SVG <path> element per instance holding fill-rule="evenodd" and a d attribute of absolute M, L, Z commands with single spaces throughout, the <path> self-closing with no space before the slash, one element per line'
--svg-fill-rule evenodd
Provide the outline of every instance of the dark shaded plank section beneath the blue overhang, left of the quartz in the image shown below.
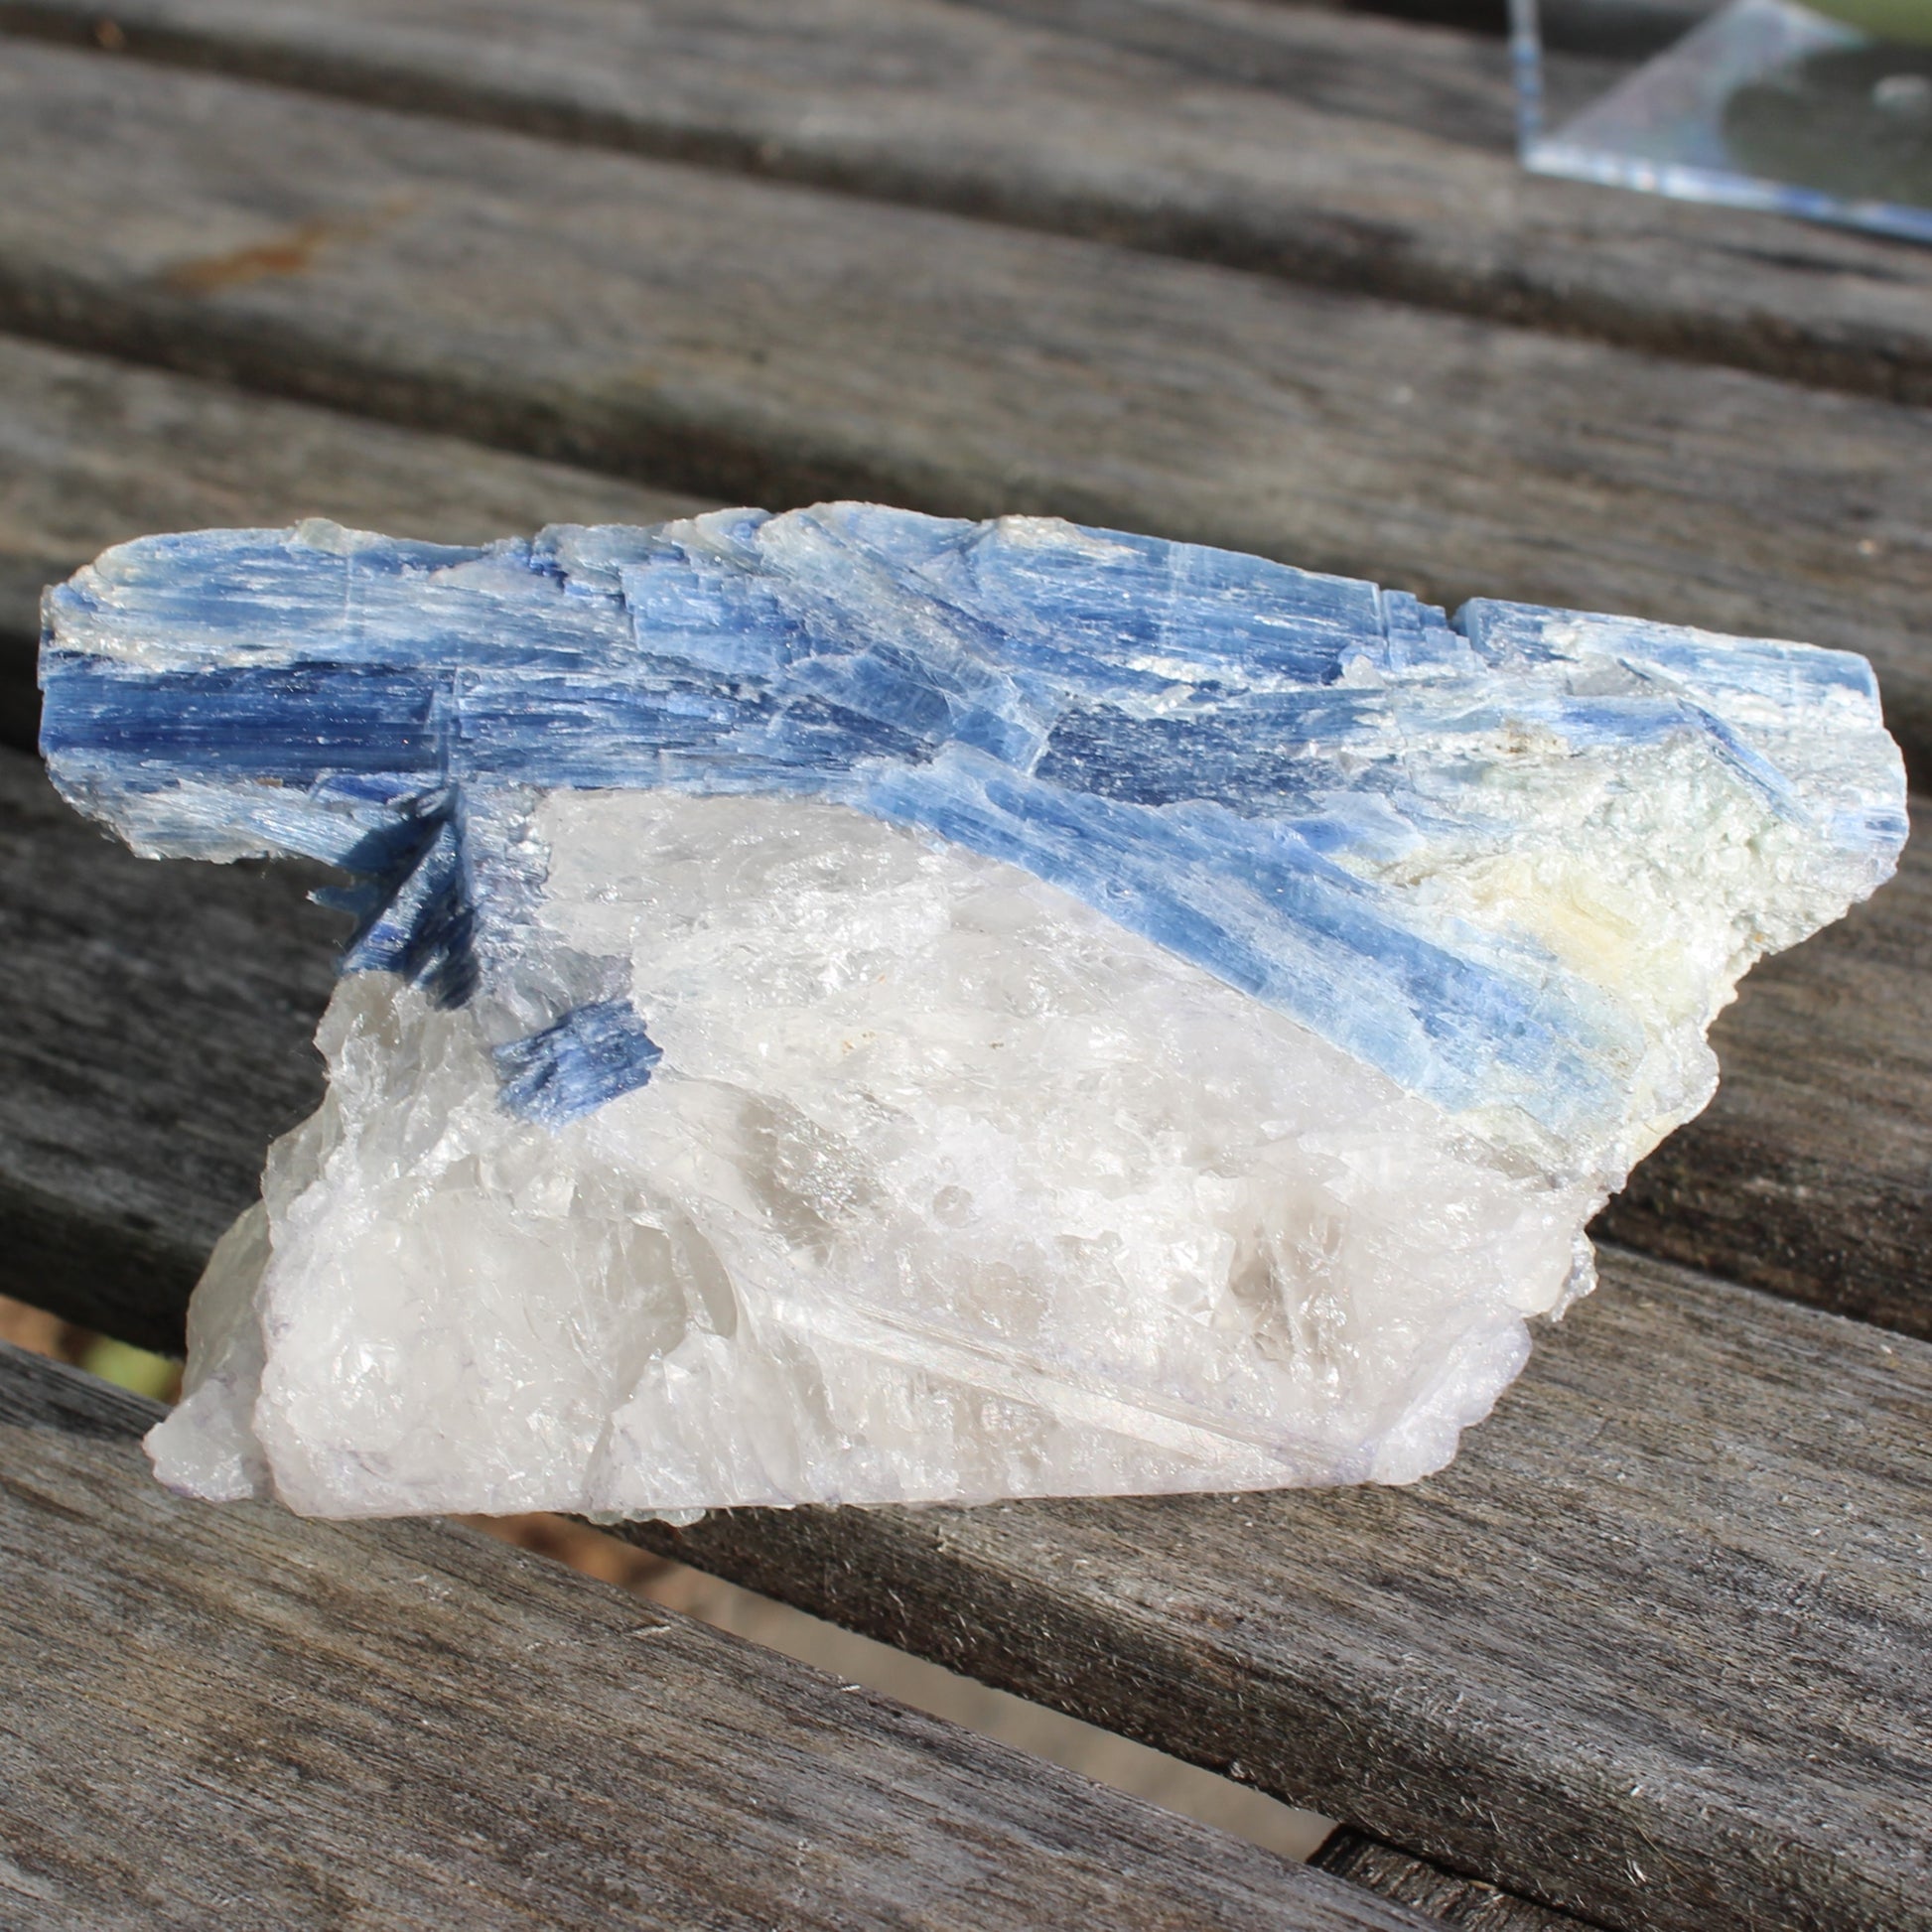
<path fill-rule="evenodd" d="M 209 1248 L 321 1099 L 346 925 L 319 877 L 135 858 L 0 752 L 0 1294 L 180 1352 Z"/>

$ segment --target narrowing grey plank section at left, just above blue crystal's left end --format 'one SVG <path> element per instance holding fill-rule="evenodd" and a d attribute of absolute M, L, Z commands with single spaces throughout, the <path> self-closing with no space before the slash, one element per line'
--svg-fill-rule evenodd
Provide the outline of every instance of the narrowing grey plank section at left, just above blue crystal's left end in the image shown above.
<path fill-rule="evenodd" d="M 41 587 L 155 529 L 332 516 L 433 543 L 649 524 L 690 497 L 0 336 L 0 744 L 39 730 Z"/>

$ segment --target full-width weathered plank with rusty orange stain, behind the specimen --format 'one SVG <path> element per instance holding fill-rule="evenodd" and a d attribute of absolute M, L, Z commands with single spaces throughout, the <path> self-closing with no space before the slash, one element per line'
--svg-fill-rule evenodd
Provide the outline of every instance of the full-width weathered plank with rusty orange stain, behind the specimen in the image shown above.
<path fill-rule="evenodd" d="M 0 321 L 703 495 L 1045 510 L 1866 651 L 1932 413 L 12 43 Z"/>

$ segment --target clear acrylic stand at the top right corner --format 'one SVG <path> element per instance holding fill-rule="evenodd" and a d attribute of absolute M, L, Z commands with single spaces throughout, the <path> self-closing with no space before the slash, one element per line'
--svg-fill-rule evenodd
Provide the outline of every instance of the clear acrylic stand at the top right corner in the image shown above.
<path fill-rule="evenodd" d="M 1524 166 L 1932 242 L 1932 0 L 1822 4 L 1731 0 L 1546 129 L 1538 0 L 1511 0 Z"/>

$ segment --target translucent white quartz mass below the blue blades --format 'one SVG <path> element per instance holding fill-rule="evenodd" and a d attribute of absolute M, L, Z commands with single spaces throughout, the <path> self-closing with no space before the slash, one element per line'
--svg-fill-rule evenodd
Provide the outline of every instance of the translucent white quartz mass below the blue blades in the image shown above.
<path fill-rule="evenodd" d="M 1586 1184 L 1012 866 L 752 798 L 539 827 L 667 1070 L 551 1130 L 473 1009 L 344 980 L 164 1482 L 236 1493 L 249 1430 L 319 1515 L 1406 1482 L 1563 1293 Z"/>

